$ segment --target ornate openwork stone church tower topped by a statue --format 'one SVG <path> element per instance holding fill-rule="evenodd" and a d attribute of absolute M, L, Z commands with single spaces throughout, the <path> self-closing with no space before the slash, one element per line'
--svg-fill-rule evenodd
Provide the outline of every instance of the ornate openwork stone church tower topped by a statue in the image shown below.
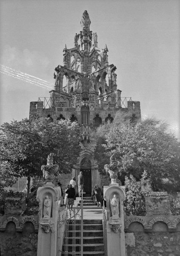
<path fill-rule="evenodd" d="M 113 117 L 117 110 L 130 111 L 134 118 L 141 118 L 140 102 L 122 98 L 117 89 L 116 67 L 108 63 L 108 47 L 98 47 L 97 33 L 90 30 L 90 18 L 84 11 L 82 30 L 74 36 L 74 47 L 63 50 L 63 66 L 55 68 L 54 90 L 49 98 L 30 102 L 30 118 L 35 115 L 56 119 L 71 119 L 82 126 L 82 151 L 73 173 L 83 171 L 86 193 L 90 194 L 96 183 L 100 185 L 93 151 L 96 141 L 91 141 L 90 131 Z"/>

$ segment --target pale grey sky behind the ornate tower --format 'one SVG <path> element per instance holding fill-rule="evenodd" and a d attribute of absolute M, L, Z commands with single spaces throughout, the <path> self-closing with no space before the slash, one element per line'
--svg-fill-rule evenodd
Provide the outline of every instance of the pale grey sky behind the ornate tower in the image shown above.
<path fill-rule="evenodd" d="M 156 117 L 179 134 L 179 10 L 176 0 L 1 0 L 1 65 L 52 86 L 63 49 L 74 46 L 87 10 L 98 47 L 108 47 L 122 97 L 141 102 L 142 118 Z M 42 88 L 1 75 L 0 125 L 29 117 L 30 101 L 49 97 Z"/>

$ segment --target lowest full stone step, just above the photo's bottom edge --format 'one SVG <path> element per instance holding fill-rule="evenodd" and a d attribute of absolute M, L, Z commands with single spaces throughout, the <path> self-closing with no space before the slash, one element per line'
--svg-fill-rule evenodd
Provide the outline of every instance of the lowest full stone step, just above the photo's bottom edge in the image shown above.
<path fill-rule="evenodd" d="M 64 251 L 64 245 L 63 245 L 63 251 Z M 72 252 L 72 250 L 79 252 L 81 249 L 80 244 L 68 244 L 68 252 Z M 83 244 L 83 252 L 96 252 L 96 251 L 103 251 L 104 250 L 104 244 Z"/>

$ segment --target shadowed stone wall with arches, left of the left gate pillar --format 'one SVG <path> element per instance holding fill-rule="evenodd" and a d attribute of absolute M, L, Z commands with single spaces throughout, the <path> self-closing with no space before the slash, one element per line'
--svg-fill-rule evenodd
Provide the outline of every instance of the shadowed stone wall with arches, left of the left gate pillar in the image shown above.
<path fill-rule="evenodd" d="M 0 219 L 1 256 L 36 256 L 38 215 Z"/>

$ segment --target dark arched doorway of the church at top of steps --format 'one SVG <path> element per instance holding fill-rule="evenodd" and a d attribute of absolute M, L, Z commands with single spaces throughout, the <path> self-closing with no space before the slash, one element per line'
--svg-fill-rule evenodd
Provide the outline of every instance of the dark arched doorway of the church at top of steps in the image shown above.
<path fill-rule="evenodd" d="M 84 192 L 86 195 L 91 196 L 91 184 L 92 184 L 92 175 L 91 175 L 91 161 L 88 157 L 84 157 L 80 163 L 80 171 L 84 177 Z"/>

